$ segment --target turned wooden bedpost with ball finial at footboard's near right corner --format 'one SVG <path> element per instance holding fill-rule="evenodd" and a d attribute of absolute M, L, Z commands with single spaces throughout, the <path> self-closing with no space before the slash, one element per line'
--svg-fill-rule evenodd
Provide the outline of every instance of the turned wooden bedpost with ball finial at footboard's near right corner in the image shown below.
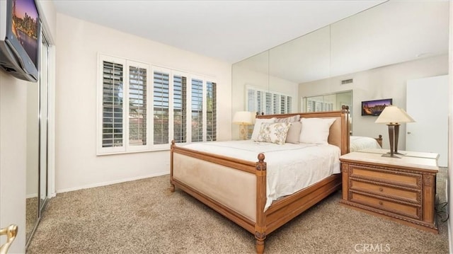
<path fill-rule="evenodd" d="M 264 240 L 266 238 L 266 225 L 264 207 L 266 203 L 266 163 L 264 154 L 258 154 L 256 163 L 256 253 L 264 252 Z"/>

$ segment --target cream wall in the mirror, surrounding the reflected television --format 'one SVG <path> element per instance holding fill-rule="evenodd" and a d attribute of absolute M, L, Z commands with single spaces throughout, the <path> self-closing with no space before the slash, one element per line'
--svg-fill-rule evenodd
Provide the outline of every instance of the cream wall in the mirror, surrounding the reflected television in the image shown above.
<path fill-rule="evenodd" d="M 447 54 L 302 83 L 299 85 L 299 98 L 352 90 L 352 134 L 367 137 L 377 137 L 382 134 L 384 148 L 388 149 L 387 126 L 375 124 L 376 117 L 361 115 L 362 100 L 392 98 L 394 105 L 405 109 L 406 81 L 444 74 L 448 74 Z M 341 85 L 341 81 L 344 79 L 354 79 L 354 82 Z M 427 106 L 429 107 L 429 105 Z M 406 148 L 405 133 L 406 125 L 401 125 L 398 140 L 398 149 L 400 150 Z"/>

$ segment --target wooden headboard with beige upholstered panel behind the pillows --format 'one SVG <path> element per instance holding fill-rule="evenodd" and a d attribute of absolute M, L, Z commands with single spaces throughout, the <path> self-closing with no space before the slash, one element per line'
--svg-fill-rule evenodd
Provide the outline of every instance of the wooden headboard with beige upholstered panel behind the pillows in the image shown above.
<path fill-rule="evenodd" d="M 300 117 L 321 117 L 321 118 L 336 118 L 336 121 L 331 125 L 328 135 L 328 143 L 340 147 L 341 154 L 349 153 L 349 125 L 348 125 L 348 110 L 328 111 L 328 112 L 309 112 L 309 113 L 292 113 L 279 115 L 256 115 L 257 118 L 285 118 L 300 115 Z"/>

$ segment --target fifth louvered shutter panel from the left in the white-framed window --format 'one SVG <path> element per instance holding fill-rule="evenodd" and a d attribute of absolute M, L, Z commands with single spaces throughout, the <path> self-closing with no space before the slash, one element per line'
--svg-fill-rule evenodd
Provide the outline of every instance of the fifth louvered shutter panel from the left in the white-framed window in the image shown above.
<path fill-rule="evenodd" d="M 203 81 L 192 79 L 192 142 L 203 141 Z"/>

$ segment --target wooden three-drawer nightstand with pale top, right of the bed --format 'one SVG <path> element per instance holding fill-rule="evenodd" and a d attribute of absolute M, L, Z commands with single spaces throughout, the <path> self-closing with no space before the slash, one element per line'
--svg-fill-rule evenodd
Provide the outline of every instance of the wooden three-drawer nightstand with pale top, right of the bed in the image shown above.
<path fill-rule="evenodd" d="M 438 233 L 435 192 L 438 154 L 367 149 L 340 157 L 342 200 L 353 209 Z"/>

